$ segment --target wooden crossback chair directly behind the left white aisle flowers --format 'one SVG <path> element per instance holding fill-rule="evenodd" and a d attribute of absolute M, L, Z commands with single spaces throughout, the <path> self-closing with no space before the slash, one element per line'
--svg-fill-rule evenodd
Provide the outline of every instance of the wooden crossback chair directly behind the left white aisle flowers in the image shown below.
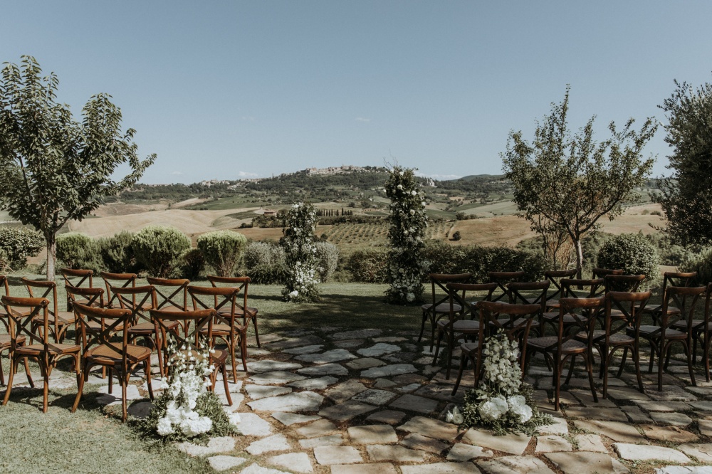
<path fill-rule="evenodd" d="M 169 371 L 167 367 L 172 366 L 172 360 L 169 359 L 169 354 L 167 353 L 169 339 L 173 339 L 176 347 L 187 347 L 187 349 L 179 349 L 180 351 L 185 352 L 187 350 L 191 350 L 197 352 L 198 355 L 201 339 L 205 339 L 206 348 L 211 349 L 209 352 L 209 364 L 214 364 L 215 366 L 214 370 L 210 374 L 210 390 L 215 391 L 217 376 L 218 373 L 221 372 L 223 385 L 225 387 L 225 396 L 227 397 L 228 404 L 232 406 L 232 397 L 230 396 L 226 369 L 226 361 L 230 353 L 226 350 L 214 349 L 212 344 L 213 324 L 216 314 L 217 312 L 214 308 L 184 312 L 151 310 L 151 318 L 156 322 L 159 331 L 161 332 L 162 351 L 164 352 L 163 357 L 166 361 L 166 372 L 163 376 L 168 376 Z M 171 327 L 176 323 L 182 324 L 184 327 L 190 327 L 191 325 L 187 324 L 188 322 L 194 323 L 193 329 L 189 332 L 185 332 L 184 336 L 177 335 L 176 332 L 171 330 Z"/>

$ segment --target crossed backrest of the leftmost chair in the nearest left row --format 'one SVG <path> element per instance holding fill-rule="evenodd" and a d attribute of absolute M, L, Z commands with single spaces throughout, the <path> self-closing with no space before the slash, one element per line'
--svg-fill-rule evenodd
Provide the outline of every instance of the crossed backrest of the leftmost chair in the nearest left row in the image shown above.
<path fill-rule="evenodd" d="M 43 350 L 49 348 L 49 305 L 47 298 L 3 296 L 0 301 L 5 307 L 9 319 L 11 351 L 17 347 L 17 338 L 26 336 L 35 344 L 41 344 Z M 40 335 L 33 332 L 33 324 L 41 319 Z M 56 319 L 56 318 L 55 318 Z M 30 344 L 27 344 L 30 345 Z"/>

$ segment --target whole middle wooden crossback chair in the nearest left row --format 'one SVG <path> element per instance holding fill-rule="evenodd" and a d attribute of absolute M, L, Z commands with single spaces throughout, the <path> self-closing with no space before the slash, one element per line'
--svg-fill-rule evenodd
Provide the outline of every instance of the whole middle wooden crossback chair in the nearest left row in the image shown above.
<path fill-rule="evenodd" d="M 89 379 L 92 367 L 109 369 L 109 393 L 112 391 L 113 376 L 121 385 L 121 420 L 126 421 L 126 388 L 131 372 L 140 364 L 144 367 L 148 394 L 153 399 L 151 385 L 151 349 L 129 343 L 129 323 L 132 312 L 128 308 L 98 308 L 74 303 L 82 332 L 82 371 L 79 389 L 74 399 L 72 413 L 79 406 L 85 381 Z M 121 342 L 112 342 L 112 335 L 121 333 Z"/>

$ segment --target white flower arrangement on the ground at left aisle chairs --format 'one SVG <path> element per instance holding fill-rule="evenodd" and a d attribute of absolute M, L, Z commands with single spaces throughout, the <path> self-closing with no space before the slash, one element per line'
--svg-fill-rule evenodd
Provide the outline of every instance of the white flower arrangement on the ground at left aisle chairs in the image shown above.
<path fill-rule="evenodd" d="M 214 366 L 209 364 L 210 353 L 200 344 L 198 349 L 169 345 L 167 366 L 169 379 L 149 416 L 140 424 L 148 436 L 164 441 L 186 441 L 196 438 L 207 441 L 208 436 L 227 436 L 236 433 L 239 414 L 226 414 L 220 399 L 208 387 Z"/>

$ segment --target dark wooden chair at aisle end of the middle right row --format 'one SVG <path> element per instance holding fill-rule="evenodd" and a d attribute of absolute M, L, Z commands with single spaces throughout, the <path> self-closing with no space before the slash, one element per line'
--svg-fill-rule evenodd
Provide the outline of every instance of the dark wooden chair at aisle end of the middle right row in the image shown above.
<path fill-rule="evenodd" d="M 468 301 L 468 293 L 470 295 L 472 293 L 486 293 L 482 301 L 491 301 L 492 293 L 496 288 L 496 283 L 448 283 L 446 285 L 446 289 L 449 293 L 450 313 L 447 320 L 442 318 L 438 321 L 438 341 L 433 356 L 433 365 L 435 365 L 440 352 L 440 342 L 443 336 L 445 336 L 448 351 L 446 379 L 450 379 L 452 353 L 456 342 L 459 339 L 467 337 L 475 339 L 479 332 L 479 317 L 477 320 L 472 320 L 472 317 L 476 315 L 475 312 L 478 302 Z M 470 296 L 470 298 L 471 297 L 472 296 Z M 461 308 L 460 312 L 456 312 L 457 307 Z M 470 319 L 467 319 L 468 315 Z"/>

